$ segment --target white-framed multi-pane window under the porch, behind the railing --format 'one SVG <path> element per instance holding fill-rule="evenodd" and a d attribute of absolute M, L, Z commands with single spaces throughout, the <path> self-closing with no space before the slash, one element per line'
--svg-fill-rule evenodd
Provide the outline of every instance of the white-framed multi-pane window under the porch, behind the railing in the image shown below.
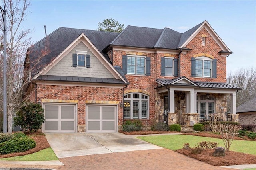
<path fill-rule="evenodd" d="M 215 98 L 214 96 L 207 96 L 205 94 L 199 94 L 196 100 L 197 113 L 200 114 L 200 118 L 207 117 L 206 115 L 215 113 Z"/>

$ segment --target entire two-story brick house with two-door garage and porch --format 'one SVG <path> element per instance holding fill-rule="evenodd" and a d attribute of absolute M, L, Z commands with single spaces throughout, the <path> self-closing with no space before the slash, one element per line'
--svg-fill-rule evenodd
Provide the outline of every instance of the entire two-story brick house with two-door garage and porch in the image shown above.
<path fill-rule="evenodd" d="M 207 21 L 184 33 L 60 27 L 28 49 L 26 92 L 45 109 L 44 132 L 114 132 L 137 119 L 192 126 L 210 113 L 224 115 L 227 95 L 238 121 L 240 88 L 226 83 L 230 54 Z"/>

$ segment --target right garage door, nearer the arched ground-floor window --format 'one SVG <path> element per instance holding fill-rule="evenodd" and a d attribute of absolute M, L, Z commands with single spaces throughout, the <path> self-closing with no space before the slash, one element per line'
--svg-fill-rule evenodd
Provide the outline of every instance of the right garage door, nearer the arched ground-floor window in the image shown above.
<path fill-rule="evenodd" d="M 116 106 L 86 106 L 87 132 L 116 132 Z"/>

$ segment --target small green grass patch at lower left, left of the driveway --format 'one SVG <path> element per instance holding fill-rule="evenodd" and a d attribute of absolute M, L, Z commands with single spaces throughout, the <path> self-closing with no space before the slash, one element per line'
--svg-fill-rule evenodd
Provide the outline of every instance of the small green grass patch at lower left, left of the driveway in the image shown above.
<path fill-rule="evenodd" d="M 0 160 L 10 160 L 10 161 L 44 161 L 44 160 L 58 160 L 57 156 L 54 154 L 52 148 L 46 148 L 40 150 L 39 152 L 24 155 L 15 156 L 10 158 L 2 158 Z"/>

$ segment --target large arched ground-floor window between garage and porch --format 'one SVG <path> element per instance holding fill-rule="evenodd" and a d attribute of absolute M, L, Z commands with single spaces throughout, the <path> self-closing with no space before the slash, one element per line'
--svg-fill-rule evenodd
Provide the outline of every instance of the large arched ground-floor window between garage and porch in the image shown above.
<path fill-rule="evenodd" d="M 124 118 L 147 119 L 149 115 L 149 96 L 142 93 L 124 95 Z"/>

